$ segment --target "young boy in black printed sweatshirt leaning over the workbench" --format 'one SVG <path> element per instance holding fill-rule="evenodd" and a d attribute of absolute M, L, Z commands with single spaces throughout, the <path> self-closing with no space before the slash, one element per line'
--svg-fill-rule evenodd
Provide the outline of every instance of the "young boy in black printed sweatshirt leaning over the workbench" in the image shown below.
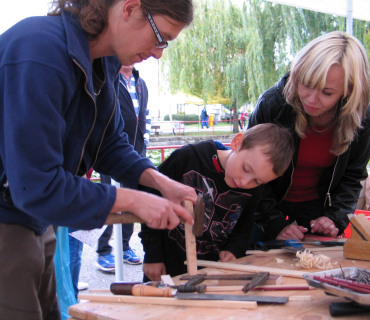
<path fill-rule="evenodd" d="M 197 237 L 197 258 L 230 261 L 245 255 L 261 199 L 262 185 L 281 176 L 294 152 L 291 133 L 276 124 L 257 125 L 237 134 L 230 149 L 212 140 L 174 151 L 159 167 L 166 176 L 203 194 L 205 222 Z M 162 274 L 186 273 L 185 230 L 142 226 L 144 281 Z"/>

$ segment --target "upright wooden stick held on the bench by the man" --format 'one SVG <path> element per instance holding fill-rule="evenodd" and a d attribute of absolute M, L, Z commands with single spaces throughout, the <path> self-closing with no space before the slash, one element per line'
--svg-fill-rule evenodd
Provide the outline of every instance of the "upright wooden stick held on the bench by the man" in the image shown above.
<path fill-rule="evenodd" d="M 185 200 L 185 209 L 194 218 L 193 203 L 189 200 Z M 189 223 L 185 223 L 185 245 L 186 245 L 186 261 L 188 274 L 195 276 L 198 272 L 197 268 L 197 243 L 195 235 L 193 234 L 193 226 Z"/>

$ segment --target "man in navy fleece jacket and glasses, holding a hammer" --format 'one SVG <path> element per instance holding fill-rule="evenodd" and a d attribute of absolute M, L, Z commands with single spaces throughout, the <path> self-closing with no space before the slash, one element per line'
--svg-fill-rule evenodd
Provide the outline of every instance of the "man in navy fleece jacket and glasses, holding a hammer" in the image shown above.
<path fill-rule="evenodd" d="M 138 155 L 116 94 L 122 64 L 159 59 L 192 19 L 191 0 L 55 0 L 0 35 L 0 319 L 60 319 L 53 226 L 101 228 L 125 211 L 193 224 L 181 204 L 194 189 Z M 91 167 L 125 188 L 82 178 Z"/>

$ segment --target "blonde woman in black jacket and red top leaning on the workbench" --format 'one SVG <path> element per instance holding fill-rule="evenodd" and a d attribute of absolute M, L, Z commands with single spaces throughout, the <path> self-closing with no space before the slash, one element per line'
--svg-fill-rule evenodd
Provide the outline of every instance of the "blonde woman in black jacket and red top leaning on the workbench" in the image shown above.
<path fill-rule="evenodd" d="M 260 96 L 249 127 L 290 128 L 296 151 L 285 174 L 266 186 L 252 243 L 343 233 L 367 177 L 369 88 L 365 49 L 335 31 L 301 49 L 290 72 Z"/>

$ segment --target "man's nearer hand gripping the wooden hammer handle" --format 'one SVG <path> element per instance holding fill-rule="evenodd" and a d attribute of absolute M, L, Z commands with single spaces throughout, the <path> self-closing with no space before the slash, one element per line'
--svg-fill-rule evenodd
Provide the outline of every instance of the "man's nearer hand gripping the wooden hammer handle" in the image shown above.
<path fill-rule="evenodd" d="M 180 223 L 180 218 L 194 224 L 191 214 L 181 205 L 147 192 L 126 188 L 117 188 L 111 213 L 116 212 L 131 212 L 153 229 L 174 229 Z"/>

